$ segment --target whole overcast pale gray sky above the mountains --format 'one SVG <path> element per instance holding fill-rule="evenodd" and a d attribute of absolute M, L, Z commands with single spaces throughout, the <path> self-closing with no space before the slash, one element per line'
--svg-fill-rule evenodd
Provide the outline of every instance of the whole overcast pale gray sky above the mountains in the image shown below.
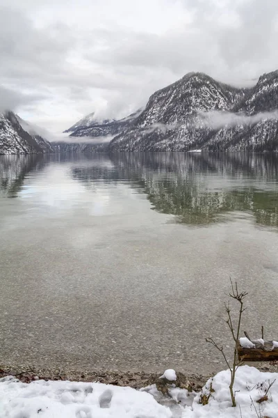
<path fill-rule="evenodd" d="M 189 71 L 254 84 L 277 42 L 277 0 L 0 0 L 0 111 L 124 117 Z"/>

